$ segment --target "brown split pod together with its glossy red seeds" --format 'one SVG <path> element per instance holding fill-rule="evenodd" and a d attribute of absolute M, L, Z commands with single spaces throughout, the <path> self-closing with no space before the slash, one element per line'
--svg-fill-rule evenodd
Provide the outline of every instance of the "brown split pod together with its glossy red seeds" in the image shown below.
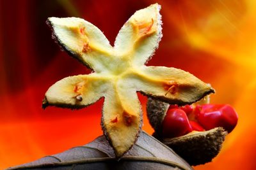
<path fill-rule="evenodd" d="M 199 103 L 204 99 L 193 106 L 169 105 L 150 97 L 147 103 L 154 136 L 193 166 L 211 162 L 237 123 L 237 113 L 231 106 Z"/>

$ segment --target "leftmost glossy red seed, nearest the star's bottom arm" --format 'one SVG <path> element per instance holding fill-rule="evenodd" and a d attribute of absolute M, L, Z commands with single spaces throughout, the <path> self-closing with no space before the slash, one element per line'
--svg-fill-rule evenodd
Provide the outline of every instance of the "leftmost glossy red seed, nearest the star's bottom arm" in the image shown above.
<path fill-rule="evenodd" d="M 172 108 L 167 111 L 163 120 L 163 137 L 174 138 L 192 131 L 185 111 Z"/>

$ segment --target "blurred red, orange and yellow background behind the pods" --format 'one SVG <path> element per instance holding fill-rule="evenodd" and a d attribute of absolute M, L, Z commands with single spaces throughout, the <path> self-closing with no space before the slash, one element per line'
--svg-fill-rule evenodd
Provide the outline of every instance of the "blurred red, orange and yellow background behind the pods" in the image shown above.
<path fill-rule="evenodd" d="M 178 67 L 211 83 L 211 103 L 239 122 L 211 163 L 195 169 L 256 169 L 256 1 L 0 1 L 0 169 L 84 145 L 102 134 L 103 100 L 82 110 L 47 108 L 46 90 L 90 73 L 51 39 L 47 17 L 82 17 L 111 44 L 134 11 L 162 5 L 163 39 L 148 65 Z M 145 113 L 147 97 L 140 95 Z M 146 114 L 144 114 L 146 115 Z M 153 130 L 144 116 L 143 129 Z"/>

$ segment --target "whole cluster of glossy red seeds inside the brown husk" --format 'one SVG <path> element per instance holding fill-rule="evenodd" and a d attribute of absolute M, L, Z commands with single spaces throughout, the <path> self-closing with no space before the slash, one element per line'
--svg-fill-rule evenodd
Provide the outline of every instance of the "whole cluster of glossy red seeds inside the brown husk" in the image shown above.
<path fill-rule="evenodd" d="M 237 118 L 228 104 L 170 105 L 162 124 L 163 137 L 174 138 L 214 127 L 223 127 L 229 133 L 236 127 Z"/>

